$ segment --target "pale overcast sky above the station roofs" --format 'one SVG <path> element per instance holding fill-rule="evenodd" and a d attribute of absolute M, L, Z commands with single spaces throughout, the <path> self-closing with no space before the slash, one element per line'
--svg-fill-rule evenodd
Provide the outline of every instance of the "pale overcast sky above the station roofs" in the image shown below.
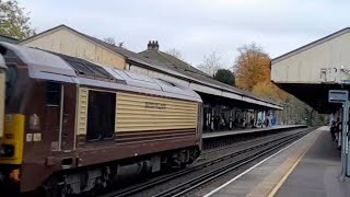
<path fill-rule="evenodd" d="M 347 0 L 19 0 L 37 33 L 66 24 L 133 51 L 159 40 L 194 66 L 217 51 L 231 67 L 252 42 L 271 58 L 350 26 Z"/>

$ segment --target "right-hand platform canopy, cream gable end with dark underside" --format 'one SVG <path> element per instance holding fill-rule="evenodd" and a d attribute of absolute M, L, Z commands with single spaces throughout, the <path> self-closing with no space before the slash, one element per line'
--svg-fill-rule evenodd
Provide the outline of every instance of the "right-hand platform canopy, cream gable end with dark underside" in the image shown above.
<path fill-rule="evenodd" d="M 272 59 L 271 80 L 319 113 L 331 113 L 329 90 L 350 90 L 350 27 Z"/>

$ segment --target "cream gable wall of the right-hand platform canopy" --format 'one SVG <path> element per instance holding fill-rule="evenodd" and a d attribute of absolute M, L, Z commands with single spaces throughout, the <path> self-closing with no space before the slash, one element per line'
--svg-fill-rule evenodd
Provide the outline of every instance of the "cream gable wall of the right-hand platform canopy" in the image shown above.
<path fill-rule="evenodd" d="M 341 67 L 350 69 L 349 32 L 273 60 L 271 79 L 288 83 L 335 82 L 350 77 L 340 71 Z"/>

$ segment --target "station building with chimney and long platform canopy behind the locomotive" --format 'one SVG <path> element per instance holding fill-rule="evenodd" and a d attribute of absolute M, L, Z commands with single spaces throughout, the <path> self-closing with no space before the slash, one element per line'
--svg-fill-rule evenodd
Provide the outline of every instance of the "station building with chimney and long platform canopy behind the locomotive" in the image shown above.
<path fill-rule="evenodd" d="M 258 120 L 258 113 L 260 118 L 270 115 L 268 118 L 272 119 L 275 112 L 283 108 L 280 104 L 213 80 L 195 67 L 161 51 L 158 42 L 150 42 L 147 50 L 137 54 L 69 26 L 59 25 L 24 39 L 19 45 L 65 54 L 189 86 L 199 93 L 203 101 L 205 131 L 230 130 L 234 126 L 248 125 L 252 118 Z M 142 78 L 137 80 L 142 81 Z"/>

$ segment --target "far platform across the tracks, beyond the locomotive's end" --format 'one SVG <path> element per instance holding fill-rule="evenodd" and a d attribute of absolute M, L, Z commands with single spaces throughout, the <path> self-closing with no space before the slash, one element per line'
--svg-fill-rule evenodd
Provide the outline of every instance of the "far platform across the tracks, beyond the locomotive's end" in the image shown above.
<path fill-rule="evenodd" d="M 203 139 L 208 138 L 219 138 L 224 136 L 234 136 L 234 135 L 242 135 L 242 134 L 250 134 L 250 132 L 264 132 L 264 131 L 277 131 L 283 129 L 296 129 L 296 128 L 306 128 L 306 125 L 278 125 L 272 127 L 264 127 L 264 128 L 246 128 L 240 130 L 228 130 L 228 131 L 213 131 L 213 132 L 205 132 L 202 135 Z"/>

